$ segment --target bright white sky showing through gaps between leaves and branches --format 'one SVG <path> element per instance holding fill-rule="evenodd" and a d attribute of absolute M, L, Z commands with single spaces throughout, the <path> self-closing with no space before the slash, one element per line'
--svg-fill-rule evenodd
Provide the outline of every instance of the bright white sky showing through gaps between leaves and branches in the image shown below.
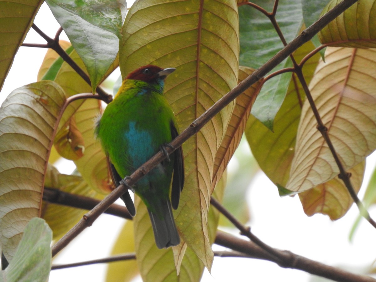
<path fill-rule="evenodd" d="M 58 23 L 45 3 L 42 5 L 35 23 L 47 35 L 55 36 Z M 61 39 L 64 39 L 64 34 Z M 44 43 L 44 40 L 31 30 L 25 42 Z M 36 73 L 45 52 L 46 49 L 20 48 L 0 93 L 0 103 L 13 89 L 35 82 Z M 374 164 L 375 161 L 376 156 L 371 156 L 369 163 Z M 236 163 L 233 162 L 232 167 L 236 168 Z M 68 162 L 68 164 L 61 165 L 59 170 L 63 173 L 70 173 L 73 167 Z M 373 165 L 367 167 L 366 177 L 369 177 L 372 170 Z M 349 230 L 358 216 L 355 205 L 344 218 L 332 222 L 323 215 L 307 217 L 298 197 L 280 198 L 273 183 L 261 173 L 255 177 L 251 186 L 247 194 L 252 217 L 249 225 L 252 227 L 252 232 L 270 246 L 291 250 L 309 259 L 344 267 L 350 271 L 354 270 L 356 273 L 369 267 L 376 258 L 376 244 L 374 243 L 376 230 L 364 220 L 361 222 L 353 242 L 349 243 Z M 364 194 L 364 188 L 361 190 L 361 197 Z M 370 212 L 376 218 L 376 209 L 373 208 Z M 124 220 L 121 218 L 102 215 L 92 227 L 87 228 L 65 248 L 54 262 L 63 264 L 108 256 L 123 223 Z M 238 233 L 236 230 L 232 232 Z M 213 249 L 220 248 L 214 246 Z M 51 272 L 50 281 L 103 281 L 105 270 L 106 264 L 54 270 Z M 280 268 L 267 261 L 215 258 L 212 273 L 209 274 L 208 271 L 205 271 L 202 281 L 304 282 L 309 281 L 311 277 L 303 271 Z"/>

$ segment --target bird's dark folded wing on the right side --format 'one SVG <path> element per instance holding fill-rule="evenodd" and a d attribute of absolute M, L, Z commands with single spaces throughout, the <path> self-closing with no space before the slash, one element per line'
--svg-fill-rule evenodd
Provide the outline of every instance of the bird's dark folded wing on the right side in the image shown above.
<path fill-rule="evenodd" d="M 179 133 L 177 132 L 173 121 L 170 123 L 170 129 L 172 139 L 175 139 Z M 181 146 L 174 151 L 174 156 L 174 176 L 172 179 L 171 205 L 174 209 L 177 209 L 179 206 L 180 191 L 183 190 L 184 186 L 184 156 Z"/>

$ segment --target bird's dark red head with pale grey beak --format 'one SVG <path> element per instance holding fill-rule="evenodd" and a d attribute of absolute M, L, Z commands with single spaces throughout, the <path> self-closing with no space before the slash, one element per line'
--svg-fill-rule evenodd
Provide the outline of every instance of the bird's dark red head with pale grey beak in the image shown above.
<path fill-rule="evenodd" d="M 156 65 L 146 65 L 138 68 L 132 73 L 128 74 L 126 79 L 142 80 L 145 82 L 153 83 L 158 80 L 164 80 L 175 68 L 160 68 Z"/>

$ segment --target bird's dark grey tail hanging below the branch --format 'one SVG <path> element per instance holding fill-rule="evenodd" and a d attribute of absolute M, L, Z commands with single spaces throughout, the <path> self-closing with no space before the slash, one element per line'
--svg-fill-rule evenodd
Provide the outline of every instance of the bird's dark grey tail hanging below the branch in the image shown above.
<path fill-rule="evenodd" d="M 161 216 L 148 209 L 152 221 L 155 243 L 158 249 L 176 246 L 180 243 L 169 199 L 163 200 L 159 206 Z"/>

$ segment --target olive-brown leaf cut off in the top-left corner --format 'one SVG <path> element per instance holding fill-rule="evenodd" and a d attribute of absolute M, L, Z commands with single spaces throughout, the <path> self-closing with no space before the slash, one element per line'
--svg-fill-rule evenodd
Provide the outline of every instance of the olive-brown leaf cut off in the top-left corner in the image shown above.
<path fill-rule="evenodd" d="M 0 90 L 42 3 L 41 0 L 0 2 Z"/>

